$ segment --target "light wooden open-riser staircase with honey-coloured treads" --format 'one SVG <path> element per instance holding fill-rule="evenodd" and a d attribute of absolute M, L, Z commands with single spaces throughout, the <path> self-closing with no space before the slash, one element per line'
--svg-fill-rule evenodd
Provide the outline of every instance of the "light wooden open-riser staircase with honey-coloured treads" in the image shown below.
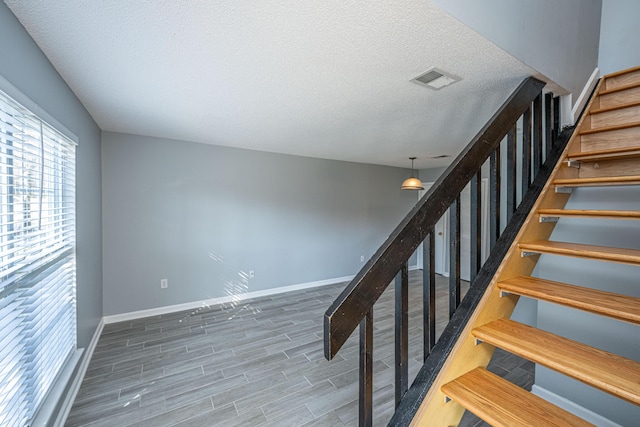
<path fill-rule="evenodd" d="M 628 248 L 550 240 L 557 222 L 567 218 L 633 224 L 640 219 L 639 211 L 564 209 L 576 188 L 597 187 L 606 194 L 609 187 L 629 185 L 640 185 L 640 67 L 599 82 L 551 179 L 412 425 L 457 425 L 465 409 L 492 426 L 592 425 L 488 372 L 485 367 L 496 347 L 640 405 L 637 361 L 510 319 L 518 298 L 524 296 L 640 324 L 640 298 L 534 277 L 541 254 L 640 267 L 640 242 Z"/>

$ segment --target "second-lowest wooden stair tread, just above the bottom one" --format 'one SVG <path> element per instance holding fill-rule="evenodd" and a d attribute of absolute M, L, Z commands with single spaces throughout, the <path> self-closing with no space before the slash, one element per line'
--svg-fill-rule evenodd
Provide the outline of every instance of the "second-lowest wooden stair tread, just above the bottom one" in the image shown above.
<path fill-rule="evenodd" d="M 491 345 L 640 405 L 640 363 L 577 341 L 499 319 L 472 334 Z"/>

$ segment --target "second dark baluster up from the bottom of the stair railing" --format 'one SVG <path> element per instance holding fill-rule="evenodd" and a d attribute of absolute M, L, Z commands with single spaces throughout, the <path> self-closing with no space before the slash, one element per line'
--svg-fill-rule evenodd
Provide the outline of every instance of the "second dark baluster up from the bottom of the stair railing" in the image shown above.
<path fill-rule="evenodd" d="M 396 408 L 409 388 L 409 267 L 396 276 Z"/>

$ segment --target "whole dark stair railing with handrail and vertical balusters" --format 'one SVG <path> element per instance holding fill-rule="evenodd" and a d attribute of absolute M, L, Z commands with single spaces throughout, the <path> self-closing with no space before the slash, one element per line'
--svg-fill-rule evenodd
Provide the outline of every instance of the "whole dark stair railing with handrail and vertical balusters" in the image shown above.
<path fill-rule="evenodd" d="M 553 141 L 558 136 L 559 98 L 553 98 L 550 93 L 543 94 L 544 85 L 543 82 L 530 77 L 516 88 L 326 311 L 324 350 L 327 360 L 331 360 L 338 353 L 356 327 L 360 326 L 359 424 L 361 426 L 369 426 L 373 421 L 373 305 L 395 280 L 395 404 L 397 409 L 407 393 L 409 381 L 409 258 L 424 242 L 423 360 L 426 362 L 436 344 L 434 238 L 436 222 L 449 209 L 449 318 L 451 319 L 460 305 L 460 194 L 467 185 L 470 185 L 470 281 L 473 289 L 475 279 L 482 267 L 480 229 L 483 167 L 488 166 L 489 169 L 489 241 L 493 249 L 503 233 L 504 226 L 501 223 L 509 223 L 516 212 L 518 193 L 522 198 L 538 173 L 545 169 L 544 161 L 551 154 Z M 485 163 L 488 165 L 483 166 Z M 502 174 L 503 169 L 506 170 L 506 176 Z M 503 198 L 506 209 L 502 207 Z M 501 213 L 506 216 L 505 221 L 501 221 Z M 491 259 L 490 256 L 487 262 Z M 447 327 L 445 335 L 451 335 L 450 329 Z M 453 333 L 455 334 L 455 331 Z M 394 417 L 396 418 L 398 417 Z"/>

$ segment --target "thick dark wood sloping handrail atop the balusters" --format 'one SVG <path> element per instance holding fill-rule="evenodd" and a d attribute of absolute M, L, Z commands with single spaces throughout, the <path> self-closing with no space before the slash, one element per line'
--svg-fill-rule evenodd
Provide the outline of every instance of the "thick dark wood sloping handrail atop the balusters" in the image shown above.
<path fill-rule="evenodd" d="M 544 85 L 529 77 L 518 86 L 329 307 L 324 316 L 324 352 L 328 360 L 371 312 L 389 283 Z"/>

